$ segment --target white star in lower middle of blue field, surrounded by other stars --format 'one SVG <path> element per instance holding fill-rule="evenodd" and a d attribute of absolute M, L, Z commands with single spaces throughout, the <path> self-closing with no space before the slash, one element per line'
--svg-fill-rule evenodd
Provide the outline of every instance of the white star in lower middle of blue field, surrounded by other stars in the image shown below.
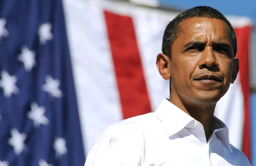
<path fill-rule="evenodd" d="M 43 106 L 38 107 L 37 103 L 31 104 L 31 111 L 28 113 L 29 119 L 34 121 L 34 126 L 39 127 L 42 125 L 47 125 L 49 123 L 49 119 L 44 115 L 45 109 Z"/>

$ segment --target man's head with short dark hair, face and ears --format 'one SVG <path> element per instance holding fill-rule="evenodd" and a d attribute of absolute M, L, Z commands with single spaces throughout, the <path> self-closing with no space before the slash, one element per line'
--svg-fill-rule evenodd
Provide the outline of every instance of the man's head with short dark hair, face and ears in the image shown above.
<path fill-rule="evenodd" d="M 215 104 L 236 79 L 236 35 L 227 19 L 209 7 L 184 11 L 166 27 L 160 75 L 170 79 L 171 97 L 187 104 Z"/>

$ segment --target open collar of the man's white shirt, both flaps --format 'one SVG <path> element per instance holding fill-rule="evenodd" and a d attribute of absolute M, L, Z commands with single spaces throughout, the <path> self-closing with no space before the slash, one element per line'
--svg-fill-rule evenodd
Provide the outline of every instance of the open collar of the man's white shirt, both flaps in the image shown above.
<path fill-rule="evenodd" d="M 183 128 L 193 128 L 192 126 L 195 123 L 200 123 L 172 104 L 166 98 L 163 98 L 160 105 L 157 107 L 155 114 L 166 127 L 169 136 L 176 134 Z M 203 126 L 199 126 L 197 129 L 200 129 L 200 127 L 203 129 Z M 211 129 L 213 133 L 221 139 L 227 149 L 232 152 L 227 126 L 214 116 Z"/>

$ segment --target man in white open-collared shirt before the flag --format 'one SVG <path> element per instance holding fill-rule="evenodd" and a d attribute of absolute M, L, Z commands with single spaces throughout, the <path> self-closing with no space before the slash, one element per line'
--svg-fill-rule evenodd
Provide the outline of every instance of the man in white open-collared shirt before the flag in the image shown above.
<path fill-rule="evenodd" d="M 166 27 L 162 51 L 156 64 L 169 100 L 105 129 L 85 166 L 250 166 L 213 116 L 239 72 L 230 22 L 207 6 L 186 10 Z"/>

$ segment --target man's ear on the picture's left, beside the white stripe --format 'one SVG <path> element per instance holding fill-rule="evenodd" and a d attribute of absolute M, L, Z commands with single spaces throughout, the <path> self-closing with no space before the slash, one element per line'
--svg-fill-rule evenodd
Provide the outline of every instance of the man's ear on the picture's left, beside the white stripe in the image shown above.
<path fill-rule="evenodd" d="M 169 80 L 171 78 L 171 73 L 168 68 L 169 63 L 170 63 L 170 59 L 165 54 L 160 53 L 157 55 L 157 60 L 156 60 L 157 69 L 159 74 L 165 80 Z"/>

